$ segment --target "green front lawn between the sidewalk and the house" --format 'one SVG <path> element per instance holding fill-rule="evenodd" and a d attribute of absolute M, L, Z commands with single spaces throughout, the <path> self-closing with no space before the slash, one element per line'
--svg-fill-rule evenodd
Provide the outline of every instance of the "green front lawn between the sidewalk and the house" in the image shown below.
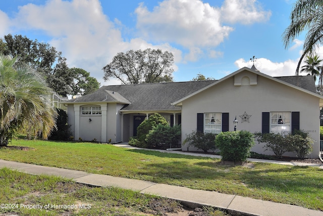
<path fill-rule="evenodd" d="M 192 189 L 218 191 L 323 210 L 323 169 L 253 163 L 222 165 L 219 159 L 130 150 L 75 142 L 13 141 L 30 151 L 0 149 L 0 159 L 83 170 Z"/>

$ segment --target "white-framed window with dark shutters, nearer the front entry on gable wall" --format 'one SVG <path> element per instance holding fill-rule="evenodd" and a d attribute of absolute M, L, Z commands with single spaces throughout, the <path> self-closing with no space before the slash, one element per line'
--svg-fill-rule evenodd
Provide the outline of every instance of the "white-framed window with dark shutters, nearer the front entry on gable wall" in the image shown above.
<path fill-rule="evenodd" d="M 204 115 L 204 132 L 220 134 L 222 132 L 222 113 L 205 113 Z"/>

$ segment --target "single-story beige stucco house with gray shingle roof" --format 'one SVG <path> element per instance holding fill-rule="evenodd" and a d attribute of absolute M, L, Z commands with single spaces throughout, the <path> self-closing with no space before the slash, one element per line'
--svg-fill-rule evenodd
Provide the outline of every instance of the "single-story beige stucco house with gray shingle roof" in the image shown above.
<path fill-rule="evenodd" d="M 157 112 L 171 125 L 182 125 L 182 141 L 195 130 L 233 131 L 237 117 L 237 130 L 252 133 L 302 129 L 315 140 L 313 158 L 319 155 L 323 96 L 316 93 L 310 75 L 272 77 L 252 66 L 219 80 L 103 86 L 64 103 L 74 140 L 127 142 Z M 252 151 L 273 154 L 263 152 L 262 145 Z"/>

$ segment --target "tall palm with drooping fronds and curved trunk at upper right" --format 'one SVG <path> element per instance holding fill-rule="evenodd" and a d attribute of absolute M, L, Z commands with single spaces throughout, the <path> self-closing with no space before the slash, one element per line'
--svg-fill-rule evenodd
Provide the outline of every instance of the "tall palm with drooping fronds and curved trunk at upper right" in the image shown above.
<path fill-rule="evenodd" d="M 313 54 L 323 43 L 323 1 L 298 0 L 291 12 L 291 23 L 283 33 L 285 49 L 304 30 L 307 30 L 303 45 L 303 54 L 298 62 L 295 74 L 298 75 L 300 64 L 307 54 Z"/>

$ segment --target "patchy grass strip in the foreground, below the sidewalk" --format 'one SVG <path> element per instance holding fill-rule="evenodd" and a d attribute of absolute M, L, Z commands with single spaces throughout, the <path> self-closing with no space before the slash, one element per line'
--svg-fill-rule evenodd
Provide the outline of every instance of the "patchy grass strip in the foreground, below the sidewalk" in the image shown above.
<path fill-rule="evenodd" d="M 96 188 L 54 176 L 0 169 L 2 213 L 19 215 L 164 215 L 182 210 L 177 201 L 120 188 Z M 209 215 L 227 215 L 205 208 Z M 205 214 L 206 215 L 206 214 Z"/>

